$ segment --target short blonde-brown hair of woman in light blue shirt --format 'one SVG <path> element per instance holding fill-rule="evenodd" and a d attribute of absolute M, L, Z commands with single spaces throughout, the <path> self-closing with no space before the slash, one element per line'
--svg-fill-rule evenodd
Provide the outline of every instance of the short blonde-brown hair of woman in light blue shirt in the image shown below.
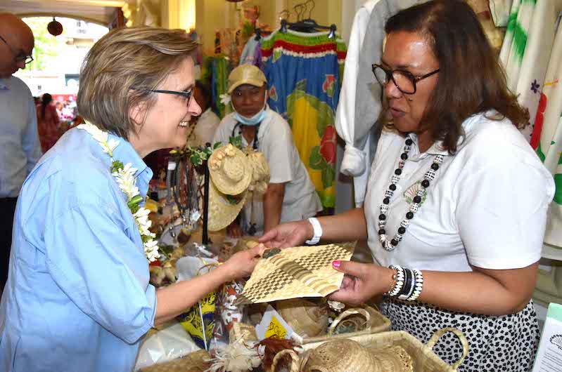
<path fill-rule="evenodd" d="M 130 109 L 142 104 L 148 110 L 156 100 L 156 93 L 133 88 L 158 88 L 196 47 L 183 29 L 112 30 L 84 58 L 77 98 L 80 115 L 128 140 L 129 133 L 136 133 Z"/>

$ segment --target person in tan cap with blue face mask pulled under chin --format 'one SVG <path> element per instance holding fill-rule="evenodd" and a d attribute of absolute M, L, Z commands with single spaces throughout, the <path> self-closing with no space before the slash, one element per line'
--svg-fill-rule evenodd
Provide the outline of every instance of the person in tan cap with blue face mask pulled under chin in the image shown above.
<path fill-rule="evenodd" d="M 322 210 L 320 199 L 293 143 L 293 133 L 281 115 L 267 106 L 267 79 L 253 65 L 240 65 L 229 75 L 235 112 L 222 119 L 213 142 L 226 144 L 241 135 L 243 146 L 263 152 L 271 178 L 267 192 L 246 203 L 241 228 L 229 233 L 262 234 L 279 223 L 311 218 Z"/>

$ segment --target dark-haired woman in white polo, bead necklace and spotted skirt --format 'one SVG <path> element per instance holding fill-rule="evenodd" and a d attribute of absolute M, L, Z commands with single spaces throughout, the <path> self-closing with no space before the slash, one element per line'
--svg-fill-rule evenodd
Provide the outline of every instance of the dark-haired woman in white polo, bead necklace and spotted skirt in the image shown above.
<path fill-rule="evenodd" d="M 464 1 L 393 15 L 373 74 L 385 123 L 364 208 L 276 227 L 269 246 L 322 236 L 368 239 L 375 264 L 334 262 L 333 300 L 385 295 L 395 330 L 424 343 L 439 328 L 470 344 L 459 371 L 528 371 L 539 330 L 530 300 L 554 181 L 518 127 L 528 111 L 506 88 Z M 435 352 L 454 363 L 452 338 Z"/>

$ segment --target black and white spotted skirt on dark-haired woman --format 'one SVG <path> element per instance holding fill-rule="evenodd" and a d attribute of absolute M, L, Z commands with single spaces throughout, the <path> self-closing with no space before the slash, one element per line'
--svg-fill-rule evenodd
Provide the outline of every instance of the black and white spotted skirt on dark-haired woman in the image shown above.
<path fill-rule="evenodd" d="M 392 321 L 392 331 L 407 331 L 422 343 L 443 327 L 458 328 L 470 345 L 459 372 L 527 372 L 532 368 L 539 345 L 539 326 L 532 301 L 516 314 L 502 317 L 442 310 L 425 303 L 405 303 L 388 298 L 381 312 Z M 452 333 L 440 338 L 433 351 L 448 364 L 462 354 Z"/>

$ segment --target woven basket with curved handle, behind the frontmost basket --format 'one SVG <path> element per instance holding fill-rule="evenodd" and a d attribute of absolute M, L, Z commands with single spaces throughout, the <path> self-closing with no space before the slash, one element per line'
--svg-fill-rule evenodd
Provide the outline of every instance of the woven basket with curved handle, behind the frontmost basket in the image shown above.
<path fill-rule="evenodd" d="M 334 333 L 336 332 L 340 324 L 351 318 L 361 319 L 362 321 L 359 326 L 361 326 L 361 328 L 364 328 L 360 331 L 352 333 Z M 330 328 L 328 328 L 328 333 L 325 336 L 307 337 L 302 338 L 302 340 L 299 341 L 302 345 L 305 345 L 309 343 L 320 343 L 322 341 L 334 340 L 338 338 L 350 338 L 353 336 L 369 335 L 372 333 L 390 331 L 390 326 L 390 319 L 385 317 L 380 312 L 376 311 L 373 307 L 364 305 L 364 307 L 352 308 L 349 310 L 345 310 L 344 312 L 339 314 L 338 317 L 333 320 Z"/>

